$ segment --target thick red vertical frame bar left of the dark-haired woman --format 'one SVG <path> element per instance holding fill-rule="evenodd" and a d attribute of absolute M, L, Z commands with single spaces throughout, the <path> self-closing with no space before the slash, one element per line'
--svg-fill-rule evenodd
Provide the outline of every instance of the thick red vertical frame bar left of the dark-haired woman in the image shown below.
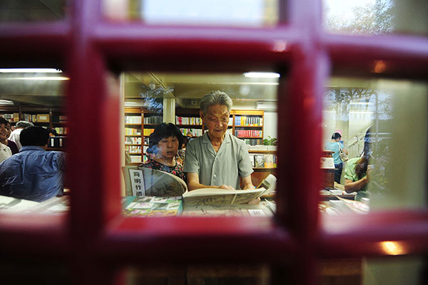
<path fill-rule="evenodd" d="M 115 167 L 119 171 L 119 97 L 108 93 L 106 66 L 93 44 L 93 29 L 101 21 L 100 1 L 74 0 L 72 4 L 67 58 L 72 274 L 78 284 L 109 284 L 114 270 L 98 260 L 96 244 L 108 219 L 120 211 L 119 199 L 113 199 L 120 192 L 119 172 L 112 172 Z"/>

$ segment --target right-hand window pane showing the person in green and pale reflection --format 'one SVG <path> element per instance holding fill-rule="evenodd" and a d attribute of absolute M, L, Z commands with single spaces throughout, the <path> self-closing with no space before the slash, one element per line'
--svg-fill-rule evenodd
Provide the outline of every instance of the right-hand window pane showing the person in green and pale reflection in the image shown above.
<path fill-rule="evenodd" d="M 322 212 L 426 206 L 427 90 L 418 82 L 332 78 L 324 96 L 323 160 L 331 163 L 322 164 Z"/>

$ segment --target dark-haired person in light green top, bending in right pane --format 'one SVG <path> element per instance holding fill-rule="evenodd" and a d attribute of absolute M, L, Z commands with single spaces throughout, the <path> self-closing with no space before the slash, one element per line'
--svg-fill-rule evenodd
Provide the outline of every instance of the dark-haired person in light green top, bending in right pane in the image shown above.
<path fill-rule="evenodd" d="M 345 191 L 357 192 L 355 200 L 361 201 L 368 196 L 367 184 L 370 182 L 369 158 L 372 157 L 371 133 L 367 130 L 364 141 L 364 150 L 361 157 L 351 158 L 345 168 Z"/>

